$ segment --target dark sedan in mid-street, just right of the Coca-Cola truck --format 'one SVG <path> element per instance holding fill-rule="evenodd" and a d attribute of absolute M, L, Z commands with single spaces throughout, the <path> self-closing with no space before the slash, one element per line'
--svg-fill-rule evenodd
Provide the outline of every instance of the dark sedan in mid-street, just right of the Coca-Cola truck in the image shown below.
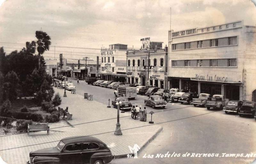
<path fill-rule="evenodd" d="M 167 106 L 167 103 L 159 95 L 150 95 L 148 99 L 144 100 L 144 103 L 145 105 L 152 106 L 152 108 L 165 108 Z"/>

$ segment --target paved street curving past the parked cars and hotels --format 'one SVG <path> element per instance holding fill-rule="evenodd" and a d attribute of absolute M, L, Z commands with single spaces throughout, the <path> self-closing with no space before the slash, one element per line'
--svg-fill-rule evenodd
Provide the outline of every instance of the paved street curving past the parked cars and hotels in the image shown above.
<path fill-rule="evenodd" d="M 113 89 L 87 85 L 83 81 L 74 84 L 77 94 L 88 92 L 93 94 L 95 101 L 107 104 L 108 98 L 114 99 Z M 132 102 L 144 102 L 145 98 L 147 96 L 138 95 Z M 144 107 L 144 103 L 137 104 Z M 256 124 L 252 118 L 180 103 L 168 103 L 166 109 L 147 109 L 155 112 L 153 121 L 161 123 L 163 131 L 139 153 L 138 159 L 116 159 L 111 163 L 251 163 L 255 159 L 220 157 L 222 153 L 256 153 Z M 126 113 L 121 113 L 121 116 Z M 145 154 L 156 156 L 167 152 L 180 153 L 180 156 L 186 152 L 219 153 L 219 156 L 143 158 Z"/>

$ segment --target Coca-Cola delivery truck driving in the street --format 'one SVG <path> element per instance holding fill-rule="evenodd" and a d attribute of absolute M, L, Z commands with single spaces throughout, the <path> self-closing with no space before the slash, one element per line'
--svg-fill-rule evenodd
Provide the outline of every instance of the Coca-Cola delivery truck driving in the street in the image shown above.
<path fill-rule="evenodd" d="M 118 90 L 114 91 L 115 96 L 122 96 L 128 99 L 135 99 L 137 97 L 136 87 L 118 86 Z"/>

